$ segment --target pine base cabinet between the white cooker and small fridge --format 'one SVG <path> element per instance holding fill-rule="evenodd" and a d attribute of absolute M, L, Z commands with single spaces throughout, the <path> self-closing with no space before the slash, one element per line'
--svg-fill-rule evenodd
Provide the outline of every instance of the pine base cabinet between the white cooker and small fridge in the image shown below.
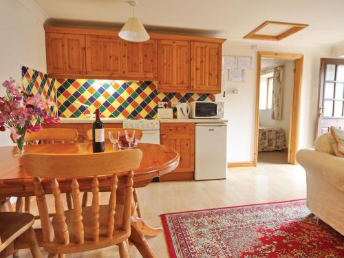
<path fill-rule="evenodd" d="M 193 180 L 195 171 L 195 123 L 160 123 L 160 144 L 180 153 L 175 171 L 163 175 L 161 181 Z"/>

